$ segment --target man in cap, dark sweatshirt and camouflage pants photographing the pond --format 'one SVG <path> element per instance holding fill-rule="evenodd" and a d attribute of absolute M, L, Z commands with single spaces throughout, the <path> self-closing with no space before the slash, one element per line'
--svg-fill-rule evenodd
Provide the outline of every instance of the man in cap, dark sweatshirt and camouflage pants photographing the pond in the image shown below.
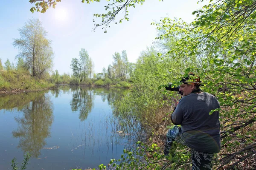
<path fill-rule="evenodd" d="M 220 152 L 219 112 L 211 115 L 211 110 L 220 108 L 215 96 L 200 89 L 200 77 L 190 73 L 183 77 L 179 91 L 183 94 L 171 115 L 174 126 L 167 134 L 165 155 L 169 154 L 172 141 L 191 148 L 192 170 L 211 170 L 213 153 Z M 166 88 L 167 89 L 167 88 Z"/>

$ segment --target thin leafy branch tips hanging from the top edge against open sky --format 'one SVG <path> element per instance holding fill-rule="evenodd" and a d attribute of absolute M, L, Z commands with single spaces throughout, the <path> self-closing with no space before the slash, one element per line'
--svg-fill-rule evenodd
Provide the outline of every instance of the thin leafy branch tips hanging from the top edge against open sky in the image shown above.
<path fill-rule="evenodd" d="M 96 29 L 97 27 L 103 26 L 102 29 L 110 27 L 110 23 L 122 23 L 122 20 L 128 21 L 128 8 L 135 8 L 135 6 L 142 5 L 145 0 L 113 0 L 112 3 L 109 3 L 107 6 L 105 6 L 106 13 L 103 14 L 93 14 L 93 16 L 101 18 L 101 23 L 96 23 L 95 20 L 93 22 L 95 23 L 94 26 Z M 161 0 L 159 0 L 161 1 Z M 162 0 L 163 1 L 163 0 Z M 57 2 L 61 2 L 61 0 L 29 0 L 30 3 L 34 3 L 35 6 L 30 8 L 30 11 L 34 13 L 34 11 L 38 11 L 41 13 L 45 13 L 47 9 L 49 9 L 51 6 L 52 8 L 55 8 Z M 82 3 L 90 3 L 90 2 L 100 2 L 100 0 L 82 0 Z M 116 16 L 119 13 L 124 13 L 124 17 L 120 19 L 119 21 L 116 21 Z"/>

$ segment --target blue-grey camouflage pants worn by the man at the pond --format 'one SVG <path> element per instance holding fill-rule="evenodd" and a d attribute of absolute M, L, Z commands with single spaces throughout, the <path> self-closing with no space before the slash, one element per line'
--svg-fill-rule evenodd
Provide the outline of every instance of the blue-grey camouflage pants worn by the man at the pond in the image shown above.
<path fill-rule="evenodd" d="M 166 144 L 164 148 L 164 154 L 168 155 L 169 150 L 172 147 L 172 142 L 176 141 L 183 145 L 186 145 L 186 142 L 181 138 L 181 129 L 178 126 L 174 126 L 168 130 L 166 133 Z M 213 153 L 199 152 L 197 150 L 191 149 L 191 159 L 192 159 L 192 170 L 211 170 L 212 169 L 212 157 Z"/>

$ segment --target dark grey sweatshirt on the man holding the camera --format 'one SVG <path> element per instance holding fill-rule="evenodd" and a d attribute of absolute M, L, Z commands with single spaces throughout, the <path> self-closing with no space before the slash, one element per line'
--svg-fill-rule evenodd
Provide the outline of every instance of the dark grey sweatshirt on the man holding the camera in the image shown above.
<path fill-rule="evenodd" d="M 200 152 L 218 153 L 220 151 L 220 123 L 218 100 L 208 93 L 189 94 L 180 99 L 172 119 L 181 125 L 186 144 Z"/>

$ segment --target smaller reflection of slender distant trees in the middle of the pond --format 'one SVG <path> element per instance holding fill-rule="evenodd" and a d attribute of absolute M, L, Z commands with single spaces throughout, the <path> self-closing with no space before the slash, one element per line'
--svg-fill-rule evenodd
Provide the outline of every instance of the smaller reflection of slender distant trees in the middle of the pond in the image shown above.
<path fill-rule="evenodd" d="M 72 111 L 80 111 L 79 119 L 84 121 L 87 119 L 88 114 L 92 111 L 95 96 L 93 90 L 87 88 L 76 88 L 73 92 L 72 100 L 70 102 Z"/>

